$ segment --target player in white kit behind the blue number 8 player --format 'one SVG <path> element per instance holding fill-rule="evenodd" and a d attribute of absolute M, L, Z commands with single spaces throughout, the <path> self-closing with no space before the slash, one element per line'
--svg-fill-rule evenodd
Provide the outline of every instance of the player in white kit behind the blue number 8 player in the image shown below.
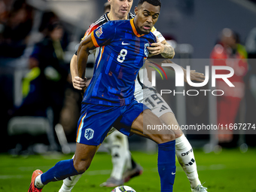
<path fill-rule="evenodd" d="M 134 17 L 134 15 L 130 13 L 130 8 L 133 5 L 132 0 L 108 0 L 108 2 L 111 5 L 111 11 L 93 23 L 87 30 L 85 37 L 90 35 L 90 33 L 93 32 L 93 30 L 98 26 L 108 22 L 108 20 L 127 20 Z M 148 47 L 151 55 L 161 54 L 161 56 L 164 58 L 172 58 L 174 56 L 174 50 L 166 42 L 166 39 L 163 38 L 163 35 L 161 35 L 161 33 L 155 28 L 152 29 L 151 32 L 154 33 L 159 41 L 156 44 L 151 44 L 151 46 L 154 47 Z M 95 57 L 98 53 L 99 50 L 94 51 Z M 77 57 L 77 55 L 72 57 L 71 73 L 76 70 Z M 191 71 L 190 75 L 191 80 L 203 81 L 203 75 L 200 73 Z M 85 79 L 75 77 L 74 75 L 72 75 L 72 82 L 73 86 L 78 90 L 83 90 L 88 85 L 88 82 L 86 82 Z M 151 108 L 151 111 L 156 114 L 157 117 L 160 117 L 163 123 L 166 125 L 173 124 L 178 126 L 178 122 L 175 119 L 172 109 L 164 101 L 162 96 L 160 96 L 160 94 L 154 90 L 154 88 L 151 86 L 151 82 L 148 81 L 148 74 L 145 65 L 139 70 L 139 75 L 136 80 L 135 97 L 138 102 L 142 102 L 147 105 L 148 108 Z M 152 98 L 157 98 L 157 100 L 154 101 Z M 148 102 L 148 99 L 151 99 L 151 102 Z M 203 187 L 197 174 L 197 164 L 193 149 L 179 126 L 178 128 L 178 130 L 173 130 L 176 138 L 175 152 L 176 156 L 178 157 L 178 162 L 181 164 L 182 169 L 190 181 L 191 191 L 207 192 L 206 187 Z M 131 177 L 141 174 L 142 168 L 138 164 L 135 164 L 134 161 L 132 163 L 127 137 L 115 130 L 114 133 L 108 135 L 107 139 L 108 147 L 111 149 L 113 169 L 111 172 L 111 177 L 108 178 L 108 180 L 103 183 L 102 186 L 115 187 L 123 184 L 124 181 L 129 181 Z M 124 167 L 126 167 L 126 170 L 124 170 Z M 66 178 L 63 181 L 59 192 L 70 192 L 80 177 L 81 175 L 75 175 L 71 178 Z"/>

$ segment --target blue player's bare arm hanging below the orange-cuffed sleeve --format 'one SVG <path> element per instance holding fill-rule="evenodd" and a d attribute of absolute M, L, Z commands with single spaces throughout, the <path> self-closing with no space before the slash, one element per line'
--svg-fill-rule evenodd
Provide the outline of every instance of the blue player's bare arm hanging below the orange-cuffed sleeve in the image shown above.
<path fill-rule="evenodd" d="M 93 50 L 96 47 L 93 44 L 93 40 L 91 35 L 88 35 L 78 47 L 78 62 L 77 62 L 77 70 L 75 71 L 75 77 L 84 78 L 87 66 L 87 60 L 89 56 L 89 50 Z M 77 78 L 77 79 L 78 79 Z"/>

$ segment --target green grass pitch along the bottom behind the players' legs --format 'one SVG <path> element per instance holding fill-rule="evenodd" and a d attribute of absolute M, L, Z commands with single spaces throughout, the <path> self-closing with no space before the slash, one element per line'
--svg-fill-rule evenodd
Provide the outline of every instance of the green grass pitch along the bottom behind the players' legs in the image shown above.
<path fill-rule="evenodd" d="M 256 149 L 249 148 L 242 154 L 239 149 L 223 150 L 220 154 L 204 154 L 194 151 L 200 180 L 209 192 L 256 192 Z M 32 172 L 50 169 L 59 160 L 72 158 L 71 155 L 32 155 L 29 157 L 11 157 L 0 154 L 0 191 L 28 191 Z M 144 172 L 126 185 L 137 192 L 159 191 L 160 178 L 157 173 L 157 154 L 133 152 L 133 158 L 139 162 Z M 190 184 L 181 166 L 176 163 L 177 172 L 174 191 L 189 192 Z M 111 156 L 98 153 L 87 172 L 78 181 L 72 192 L 110 192 L 110 187 L 99 187 L 111 172 Z M 45 192 L 58 192 L 62 181 L 51 182 L 44 187 Z"/>

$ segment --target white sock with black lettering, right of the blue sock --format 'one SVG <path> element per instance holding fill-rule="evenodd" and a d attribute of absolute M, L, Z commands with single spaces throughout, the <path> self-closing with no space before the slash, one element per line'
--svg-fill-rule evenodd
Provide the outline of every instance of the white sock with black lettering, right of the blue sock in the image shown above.
<path fill-rule="evenodd" d="M 186 173 L 187 178 L 190 181 L 190 187 L 195 188 L 198 184 L 201 184 L 201 182 L 198 178 L 197 164 L 193 148 L 184 134 L 175 139 L 175 141 L 175 151 L 176 156 L 178 157 L 178 163 L 181 164 L 182 169 Z"/>

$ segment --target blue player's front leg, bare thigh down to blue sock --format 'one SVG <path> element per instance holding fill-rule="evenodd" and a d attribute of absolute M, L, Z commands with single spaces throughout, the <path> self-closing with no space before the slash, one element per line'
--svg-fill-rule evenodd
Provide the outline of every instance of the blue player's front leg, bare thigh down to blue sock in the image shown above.
<path fill-rule="evenodd" d="M 158 130 L 145 130 L 147 125 L 161 125 L 160 119 L 149 110 L 143 111 L 134 120 L 132 132 L 146 136 L 158 144 L 158 173 L 160 175 L 161 191 L 172 191 L 175 180 L 175 134 L 160 134 Z"/>

